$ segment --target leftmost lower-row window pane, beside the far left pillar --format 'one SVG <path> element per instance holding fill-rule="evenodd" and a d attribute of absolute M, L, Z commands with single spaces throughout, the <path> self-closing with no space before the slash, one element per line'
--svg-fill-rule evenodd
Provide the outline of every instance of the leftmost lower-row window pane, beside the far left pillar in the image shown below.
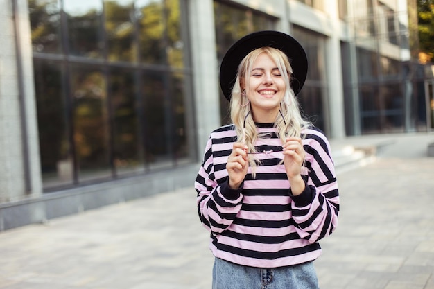
<path fill-rule="evenodd" d="M 35 60 L 35 94 L 44 187 L 73 182 L 73 159 L 60 64 Z"/>

